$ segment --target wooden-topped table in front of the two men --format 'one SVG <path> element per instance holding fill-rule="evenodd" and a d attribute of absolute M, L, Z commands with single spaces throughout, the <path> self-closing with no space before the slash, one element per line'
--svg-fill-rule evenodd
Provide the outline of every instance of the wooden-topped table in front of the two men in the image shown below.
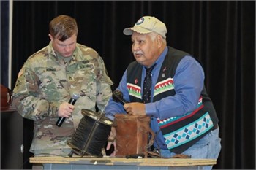
<path fill-rule="evenodd" d="M 31 157 L 31 163 L 42 163 L 44 169 L 203 169 L 213 166 L 215 159 L 184 158 L 116 158 L 116 157 Z"/>

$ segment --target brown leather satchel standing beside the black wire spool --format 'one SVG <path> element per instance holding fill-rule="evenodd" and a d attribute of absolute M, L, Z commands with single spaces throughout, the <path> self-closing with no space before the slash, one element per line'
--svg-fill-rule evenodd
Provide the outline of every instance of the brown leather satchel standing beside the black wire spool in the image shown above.
<path fill-rule="evenodd" d="M 116 114 L 116 156 L 144 154 L 154 142 L 154 132 L 149 127 L 150 117 Z M 148 141 L 149 133 L 151 139 Z"/>

